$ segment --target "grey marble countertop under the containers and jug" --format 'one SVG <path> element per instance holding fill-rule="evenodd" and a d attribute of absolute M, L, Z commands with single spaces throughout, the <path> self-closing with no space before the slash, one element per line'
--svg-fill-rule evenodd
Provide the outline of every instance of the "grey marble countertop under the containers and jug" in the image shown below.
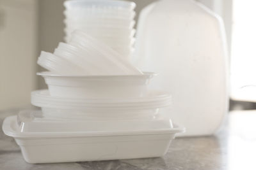
<path fill-rule="evenodd" d="M 17 111 L 0 112 L 4 117 Z M 214 136 L 177 138 L 163 158 L 28 164 L 13 138 L 0 132 L 0 169 L 256 169 L 256 111 L 233 111 Z"/>

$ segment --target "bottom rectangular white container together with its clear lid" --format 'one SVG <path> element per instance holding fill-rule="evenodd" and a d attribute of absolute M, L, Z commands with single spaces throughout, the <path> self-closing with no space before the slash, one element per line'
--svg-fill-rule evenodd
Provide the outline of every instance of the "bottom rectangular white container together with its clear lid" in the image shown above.
<path fill-rule="evenodd" d="M 3 131 L 15 139 L 26 162 L 35 164 L 162 157 L 184 128 L 170 120 L 44 120 L 28 111 L 6 118 Z"/>

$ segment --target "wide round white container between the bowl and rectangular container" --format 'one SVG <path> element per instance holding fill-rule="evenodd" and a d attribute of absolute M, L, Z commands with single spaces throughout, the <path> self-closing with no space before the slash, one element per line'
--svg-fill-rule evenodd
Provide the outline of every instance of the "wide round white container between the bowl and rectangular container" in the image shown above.
<path fill-rule="evenodd" d="M 42 108 L 44 117 L 62 120 L 154 120 L 159 109 L 170 106 L 166 92 L 151 91 L 145 97 L 74 99 L 54 97 L 48 90 L 31 92 L 31 104 Z"/>

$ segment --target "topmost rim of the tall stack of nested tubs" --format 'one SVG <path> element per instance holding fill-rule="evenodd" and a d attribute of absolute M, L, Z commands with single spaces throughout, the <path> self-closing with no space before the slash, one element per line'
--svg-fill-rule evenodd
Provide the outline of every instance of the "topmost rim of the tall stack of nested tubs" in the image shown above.
<path fill-rule="evenodd" d="M 67 10 L 72 9 L 84 9 L 84 8 L 106 8 L 115 10 L 134 10 L 136 4 L 130 1 L 117 1 L 117 0 L 72 0 L 65 1 L 65 8 Z"/>

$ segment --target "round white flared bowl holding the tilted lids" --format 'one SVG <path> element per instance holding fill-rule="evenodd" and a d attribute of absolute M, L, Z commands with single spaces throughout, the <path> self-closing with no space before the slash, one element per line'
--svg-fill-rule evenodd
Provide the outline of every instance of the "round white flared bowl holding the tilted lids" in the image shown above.
<path fill-rule="evenodd" d="M 72 76 L 50 72 L 43 76 L 51 96 L 72 98 L 143 97 L 155 73 L 108 76 Z"/>

